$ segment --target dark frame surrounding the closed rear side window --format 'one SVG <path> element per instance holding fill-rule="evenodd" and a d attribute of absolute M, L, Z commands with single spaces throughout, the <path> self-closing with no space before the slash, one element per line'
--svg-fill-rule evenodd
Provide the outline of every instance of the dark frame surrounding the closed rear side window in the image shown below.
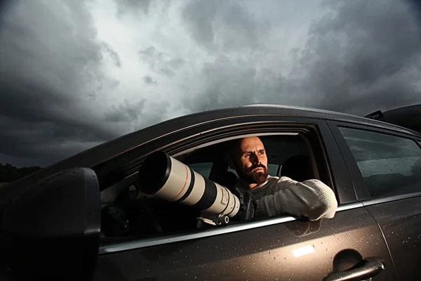
<path fill-rule="evenodd" d="M 347 164 L 347 168 L 351 176 L 352 185 L 354 185 L 354 190 L 356 192 L 357 200 L 359 200 L 360 202 L 363 202 L 363 204 L 368 206 L 370 204 L 391 202 L 394 200 L 401 200 L 401 199 L 421 196 L 421 191 L 420 191 L 420 192 L 408 192 L 408 193 L 403 193 L 403 194 L 398 194 L 398 195 L 387 195 L 383 197 L 371 197 L 370 192 L 368 191 L 368 186 L 363 180 L 363 176 L 358 167 L 358 164 L 356 164 L 354 155 L 352 155 L 352 151 L 349 148 L 349 145 L 347 144 L 347 142 L 345 141 L 344 136 L 340 132 L 339 127 L 357 129 L 357 130 L 363 130 L 363 131 L 371 131 L 374 133 L 384 133 L 386 135 L 396 136 L 399 138 L 407 138 L 411 141 L 414 141 L 415 144 L 417 144 L 421 149 L 420 136 L 413 135 L 412 133 L 402 133 L 400 131 L 394 131 L 393 129 L 370 126 L 367 124 L 357 124 L 354 122 L 339 122 L 339 121 L 328 120 L 326 123 L 328 124 L 330 131 L 332 131 L 335 141 L 338 143 L 338 146 L 340 148 L 341 154 L 345 159 L 345 163 Z"/>

